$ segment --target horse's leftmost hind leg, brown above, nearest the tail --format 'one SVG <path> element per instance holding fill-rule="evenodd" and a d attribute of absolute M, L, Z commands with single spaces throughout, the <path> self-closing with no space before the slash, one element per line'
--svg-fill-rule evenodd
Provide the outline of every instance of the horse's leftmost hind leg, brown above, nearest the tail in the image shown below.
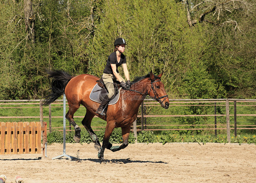
<path fill-rule="evenodd" d="M 66 118 L 75 128 L 75 135 L 74 135 L 75 142 L 80 142 L 81 129 L 80 129 L 80 127 L 78 127 L 77 123 L 74 121 L 74 113 L 77 111 L 77 109 L 80 107 L 80 105 L 72 105 L 72 104 L 68 103 L 68 106 L 69 106 L 69 110 L 66 114 Z"/>

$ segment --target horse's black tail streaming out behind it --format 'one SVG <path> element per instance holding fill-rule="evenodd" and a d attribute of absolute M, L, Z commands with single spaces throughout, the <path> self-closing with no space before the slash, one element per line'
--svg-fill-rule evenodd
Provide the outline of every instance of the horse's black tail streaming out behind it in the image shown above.
<path fill-rule="evenodd" d="M 65 92 L 67 83 L 71 80 L 73 76 L 67 72 L 60 70 L 47 71 L 48 77 L 52 78 L 51 80 L 51 94 L 45 97 L 43 105 L 49 105 L 51 102 L 54 102 L 58 97 L 60 97 Z"/>

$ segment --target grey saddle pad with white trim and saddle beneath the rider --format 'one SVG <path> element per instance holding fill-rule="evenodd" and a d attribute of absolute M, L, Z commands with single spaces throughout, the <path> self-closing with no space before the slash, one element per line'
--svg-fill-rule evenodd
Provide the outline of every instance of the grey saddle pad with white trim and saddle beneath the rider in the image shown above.
<path fill-rule="evenodd" d="M 113 105 L 118 102 L 119 99 L 119 91 L 121 90 L 120 82 L 114 81 L 115 94 L 111 97 L 108 105 Z M 108 95 L 108 90 L 104 85 L 102 78 L 97 80 L 97 84 L 93 87 L 90 93 L 90 99 L 94 102 L 101 103 L 103 98 Z"/>

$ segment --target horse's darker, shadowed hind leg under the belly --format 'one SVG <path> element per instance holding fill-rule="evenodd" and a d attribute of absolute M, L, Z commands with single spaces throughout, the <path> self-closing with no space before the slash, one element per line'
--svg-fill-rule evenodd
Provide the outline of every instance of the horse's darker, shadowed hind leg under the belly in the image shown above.
<path fill-rule="evenodd" d="M 95 116 L 95 114 L 93 114 L 92 112 L 90 112 L 88 109 L 86 110 L 86 115 L 82 120 L 82 125 L 85 127 L 85 129 L 87 130 L 87 132 L 89 132 L 89 134 L 92 137 L 92 142 L 94 142 L 94 147 L 97 149 L 97 151 L 100 149 L 101 145 L 99 142 L 99 139 L 97 137 L 97 135 L 93 132 L 92 127 L 91 127 L 91 123 L 92 123 L 92 118 Z"/>

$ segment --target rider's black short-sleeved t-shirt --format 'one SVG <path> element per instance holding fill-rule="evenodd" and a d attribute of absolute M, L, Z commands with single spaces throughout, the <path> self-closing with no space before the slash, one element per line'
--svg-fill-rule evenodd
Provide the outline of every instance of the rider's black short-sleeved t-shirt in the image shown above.
<path fill-rule="evenodd" d="M 112 67 L 111 67 L 110 64 L 116 64 L 117 72 L 119 73 L 118 66 L 121 66 L 122 64 L 125 64 L 125 63 L 126 63 L 126 57 L 123 55 L 123 53 L 121 53 L 121 58 L 120 58 L 120 61 L 118 63 L 117 53 L 113 52 L 113 53 L 110 54 L 110 56 L 108 56 L 108 61 L 107 61 L 107 64 L 105 66 L 105 69 L 104 69 L 103 73 L 113 74 Z"/>

